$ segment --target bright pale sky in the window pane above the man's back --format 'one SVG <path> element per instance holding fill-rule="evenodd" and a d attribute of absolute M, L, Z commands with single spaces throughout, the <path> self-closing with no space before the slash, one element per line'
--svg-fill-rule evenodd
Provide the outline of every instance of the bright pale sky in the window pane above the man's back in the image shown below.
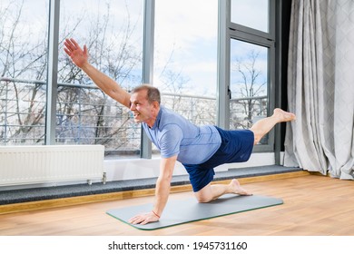
<path fill-rule="evenodd" d="M 155 15 L 155 75 L 174 47 L 171 65 L 189 79 L 186 86 L 200 95 L 215 95 L 218 1 L 157 0 Z"/>

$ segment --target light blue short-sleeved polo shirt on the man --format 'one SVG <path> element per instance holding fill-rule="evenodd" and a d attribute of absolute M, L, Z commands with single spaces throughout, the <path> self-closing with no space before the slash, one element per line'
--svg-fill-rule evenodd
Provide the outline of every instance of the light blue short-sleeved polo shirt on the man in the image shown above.
<path fill-rule="evenodd" d="M 183 164 L 208 161 L 221 146 L 221 135 L 215 126 L 196 126 L 163 106 L 152 128 L 143 122 L 143 129 L 162 158 L 178 155 L 177 161 Z"/>

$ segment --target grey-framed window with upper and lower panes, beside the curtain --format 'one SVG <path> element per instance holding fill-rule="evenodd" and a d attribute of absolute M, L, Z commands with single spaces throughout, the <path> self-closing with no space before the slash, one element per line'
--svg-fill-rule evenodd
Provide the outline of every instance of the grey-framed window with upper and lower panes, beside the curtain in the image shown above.
<path fill-rule="evenodd" d="M 275 1 L 229 0 L 220 6 L 219 93 L 226 100 L 220 98 L 219 123 L 249 129 L 274 108 Z M 273 145 L 270 132 L 254 151 L 273 151 Z"/>

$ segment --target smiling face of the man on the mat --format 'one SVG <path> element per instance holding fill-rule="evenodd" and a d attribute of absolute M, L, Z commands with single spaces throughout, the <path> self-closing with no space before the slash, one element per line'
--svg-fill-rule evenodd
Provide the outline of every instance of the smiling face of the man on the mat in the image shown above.
<path fill-rule="evenodd" d="M 146 122 L 149 126 L 153 125 L 155 108 L 153 103 L 151 104 L 147 100 L 146 90 L 132 94 L 131 111 L 133 112 L 134 122 Z"/>

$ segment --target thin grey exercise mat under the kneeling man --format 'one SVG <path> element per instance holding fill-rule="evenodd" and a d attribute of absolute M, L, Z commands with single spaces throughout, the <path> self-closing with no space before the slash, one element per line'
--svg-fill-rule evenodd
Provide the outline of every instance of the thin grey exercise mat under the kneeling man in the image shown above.
<path fill-rule="evenodd" d="M 280 199 L 266 196 L 238 196 L 231 194 L 224 195 L 209 203 L 198 203 L 195 198 L 169 200 L 163 210 L 161 219 L 146 225 L 132 225 L 128 220 L 138 213 L 151 211 L 152 204 L 108 210 L 107 214 L 139 230 L 157 230 L 192 221 L 206 220 L 232 213 L 280 205 L 282 203 L 283 201 Z"/>

